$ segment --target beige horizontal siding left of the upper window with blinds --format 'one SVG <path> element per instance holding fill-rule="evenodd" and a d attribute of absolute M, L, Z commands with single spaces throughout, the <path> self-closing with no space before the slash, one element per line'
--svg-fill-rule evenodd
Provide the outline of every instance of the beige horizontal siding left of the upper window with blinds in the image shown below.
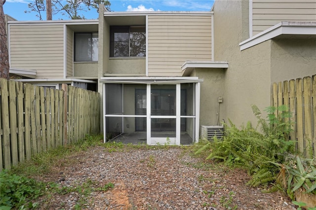
<path fill-rule="evenodd" d="M 37 79 L 63 77 L 63 35 L 63 25 L 10 24 L 10 67 L 37 70 Z"/>

